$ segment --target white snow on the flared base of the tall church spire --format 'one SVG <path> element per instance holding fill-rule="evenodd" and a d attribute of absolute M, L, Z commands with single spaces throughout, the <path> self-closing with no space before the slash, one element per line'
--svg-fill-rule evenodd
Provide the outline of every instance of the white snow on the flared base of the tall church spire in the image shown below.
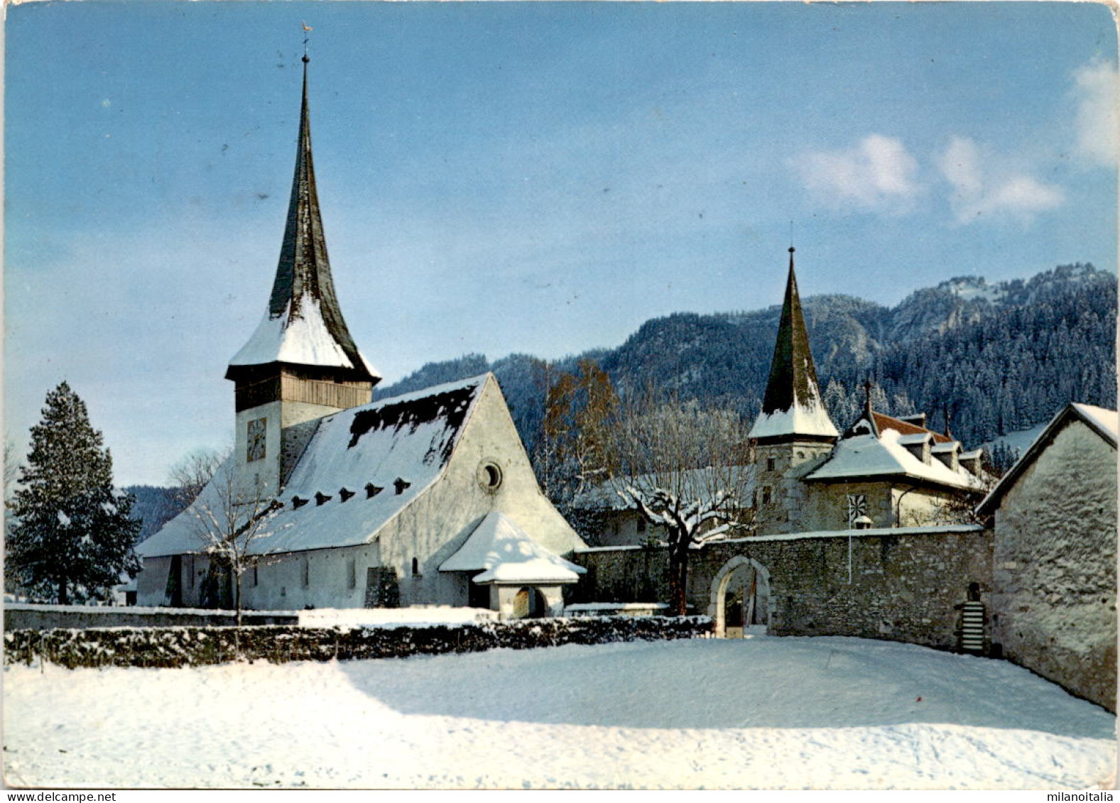
<path fill-rule="evenodd" d="M 298 314 L 292 310 L 297 309 Z M 374 376 L 377 372 L 358 353 L 361 366 L 346 356 L 342 344 L 330 334 L 323 317 L 319 299 L 309 293 L 300 304 L 291 302 L 277 316 L 265 314 L 253 336 L 241 347 L 230 365 L 268 365 L 269 363 L 291 363 L 293 365 L 323 365 L 328 367 L 362 368 Z"/>

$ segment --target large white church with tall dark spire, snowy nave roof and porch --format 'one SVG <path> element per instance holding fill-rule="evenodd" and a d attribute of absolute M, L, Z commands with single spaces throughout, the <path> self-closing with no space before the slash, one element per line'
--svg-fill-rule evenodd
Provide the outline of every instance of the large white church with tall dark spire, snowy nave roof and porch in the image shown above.
<path fill-rule="evenodd" d="M 230 361 L 233 454 L 138 547 L 140 605 L 451 605 L 558 615 L 586 547 L 536 484 L 493 375 L 371 401 L 335 293 L 304 56 L 296 170 L 268 309 Z M 236 550 L 242 571 L 214 560 Z M 230 562 L 228 560 L 226 562 Z"/>

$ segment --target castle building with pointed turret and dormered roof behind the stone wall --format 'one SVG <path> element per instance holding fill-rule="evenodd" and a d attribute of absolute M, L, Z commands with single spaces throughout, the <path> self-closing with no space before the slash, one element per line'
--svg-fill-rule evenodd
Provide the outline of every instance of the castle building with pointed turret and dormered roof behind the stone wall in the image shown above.
<path fill-rule="evenodd" d="M 979 449 L 964 451 L 948 433 L 925 427 L 925 415 L 893 418 L 871 409 L 840 435 L 821 399 L 797 279 L 790 269 L 762 411 L 750 429 L 754 463 L 740 468 L 745 520 L 756 535 L 952 524 L 980 499 L 986 475 Z M 596 545 L 655 540 L 636 511 L 626 510 L 610 483 L 576 505 L 595 515 Z"/>

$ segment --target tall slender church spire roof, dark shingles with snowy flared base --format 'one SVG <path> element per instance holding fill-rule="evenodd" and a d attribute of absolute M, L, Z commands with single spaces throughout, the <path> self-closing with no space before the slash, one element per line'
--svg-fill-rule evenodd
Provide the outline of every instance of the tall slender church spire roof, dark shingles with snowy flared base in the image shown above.
<path fill-rule="evenodd" d="M 330 277 L 311 159 L 308 60 L 305 55 L 296 175 L 269 309 L 249 343 L 230 361 L 226 379 L 235 380 L 256 366 L 286 363 L 337 370 L 338 379 L 376 383 L 381 377 L 354 345 Z"/>

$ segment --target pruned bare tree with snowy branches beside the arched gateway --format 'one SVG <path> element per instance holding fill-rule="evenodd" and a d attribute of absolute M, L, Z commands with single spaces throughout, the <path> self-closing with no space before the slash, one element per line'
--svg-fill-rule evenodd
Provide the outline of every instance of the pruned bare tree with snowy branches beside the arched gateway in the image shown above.
<path fill-rule="evenodd" d="M 664 529 L 670 606 L 687 613 L 689 550 L 754 529 L 753 448 L 734 410 L 651 393 L 627 405 L 613 438 L 615 493 Z"/>

